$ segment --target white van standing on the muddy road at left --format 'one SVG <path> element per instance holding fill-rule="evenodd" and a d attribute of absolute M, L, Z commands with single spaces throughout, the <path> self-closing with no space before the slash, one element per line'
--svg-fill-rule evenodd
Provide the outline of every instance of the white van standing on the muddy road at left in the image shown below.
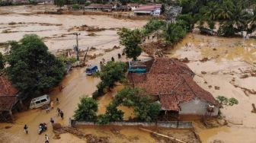
<path fill-rule="evenodd" d="M 39 108 L 47 104 L 50 104 L 50 97 L 45 94 L 41 97 L 33 98 L 30 102 L 30 109 Z"/>

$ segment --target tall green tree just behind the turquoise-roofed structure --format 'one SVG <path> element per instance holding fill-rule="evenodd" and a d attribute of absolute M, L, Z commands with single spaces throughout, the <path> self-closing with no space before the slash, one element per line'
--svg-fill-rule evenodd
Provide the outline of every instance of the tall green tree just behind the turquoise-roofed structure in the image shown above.
<path fill-rule="evenodd" d="M 141 54 L 142 49 L 139 47 L 139 43 L 142 42 L 142 35 L 139 30 L 129 30 L 122 28 L 118 31 L 120 38 L 120 44 L 125 46 L 124 52 L 128 58 L 133 58 L 136 61 L 137 57 Z"/>

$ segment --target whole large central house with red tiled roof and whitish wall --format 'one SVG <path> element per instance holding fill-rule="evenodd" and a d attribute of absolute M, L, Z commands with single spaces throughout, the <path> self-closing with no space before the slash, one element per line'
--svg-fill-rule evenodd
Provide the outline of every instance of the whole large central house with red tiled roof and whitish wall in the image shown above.
<path fill-rule="evenodd" d="M 148 62 L 149 63 L 149 62 Z M 141 66 L 141 65 L 140 65 Z M 162 113 L 174 115 L 217 116 L 219 103 L 210 92 L 193 80 L 194 72 L 178 59 L 152 59 L 146 73 L 130 72 L 133 87 L 159 100 Z M 149 67 L 150 66 L 150 67 Z"/>

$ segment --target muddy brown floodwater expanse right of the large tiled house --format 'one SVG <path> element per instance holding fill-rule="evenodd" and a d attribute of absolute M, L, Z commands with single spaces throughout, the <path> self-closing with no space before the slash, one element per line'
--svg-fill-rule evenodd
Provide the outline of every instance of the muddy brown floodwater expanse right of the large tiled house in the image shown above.
<path fill-rule="evenodd" d="M 186 46 L 186 43 L 188 46 Z M 169 57 L 190 60 L 187 65 L 195 72 L 194 81 L 213 94 L 238 100 L 238 105 L 224 106 L 222 117 L 229 127 L 203 129 L 194 124 L 203 143 L 221 140 L 227 143 L 256 142 L 256 114 L 251 113 L 256 94 L 256 40 L 209 37 L 189 33 L 171 49 Z M 201 59 L 206 59 L 200 62 Z M 206 74 L 202 74 L 205 71 Z M 248 78 L 240 78 L 248 75 Z M 219 87 L 216 89 L 215 87 Z"/>

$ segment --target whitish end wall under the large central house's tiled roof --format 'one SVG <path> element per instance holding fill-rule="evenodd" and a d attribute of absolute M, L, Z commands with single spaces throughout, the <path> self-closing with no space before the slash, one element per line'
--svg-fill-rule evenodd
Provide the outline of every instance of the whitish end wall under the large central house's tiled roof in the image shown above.
<path fill-rule="evenodd" d="M 219 107 L 215 106 L 214 107 L 214 112 L 213 113 L 208 113 L 207 112 L 207 106 L 208 103 L 200 100 L 199 98 L 196 98 L 194 100 L 191 100 L 190 102 L 187 103 L 181 103 L 180 107 L 181 110 L 179 111 L 179 114 L 181 115 L 208 115 L 208 116 L 217 116 L 219 113 Z"/>

